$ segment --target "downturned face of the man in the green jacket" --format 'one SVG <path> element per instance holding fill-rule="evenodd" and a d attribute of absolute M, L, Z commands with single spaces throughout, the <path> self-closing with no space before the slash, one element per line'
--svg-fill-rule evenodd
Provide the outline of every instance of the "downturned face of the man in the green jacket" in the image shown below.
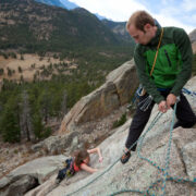
<path fill-rule="evenodd" d="M 137 29 L 135 25 L 130 26 L 128 33 L 134 38 L 136 44 L 147 45 L 151 40 L 152 35 L 151 35 L 150 26 L 145 26 L 144 29 L 145 32 Z"/>

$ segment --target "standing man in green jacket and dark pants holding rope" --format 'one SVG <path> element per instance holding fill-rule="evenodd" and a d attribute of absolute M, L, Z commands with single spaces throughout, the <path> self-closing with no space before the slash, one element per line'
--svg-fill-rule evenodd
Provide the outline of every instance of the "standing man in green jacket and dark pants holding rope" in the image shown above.
<path fill-rule="evenodd" d="M 139 138 L 155 103 L 158 105 L 159 111 L 164 113 L 173 108 L 176 98 L 180 97 L 176 105 L 177 122 L 174 127 L 192 127 L 196 123 L 196 115 L 181 91 L 191 77 L 193 60 L 192 46 L 185 30 L 156 26 L 155 20 L 145 11 L 135 12 L 130 17 L 126 29 L 137 44 L 134 60 L 146 94 L 139 97 L 125 143 L 126 152 L 121 158 L 122 163 L 130 159 L 130 150 L 136 149 L 136 145 L 132 145 Z M 158 56 L 152 68 L 159 42 Z M 139 106 L 145 101 L 148 101 L 149 106 L 142 110 Z"/>

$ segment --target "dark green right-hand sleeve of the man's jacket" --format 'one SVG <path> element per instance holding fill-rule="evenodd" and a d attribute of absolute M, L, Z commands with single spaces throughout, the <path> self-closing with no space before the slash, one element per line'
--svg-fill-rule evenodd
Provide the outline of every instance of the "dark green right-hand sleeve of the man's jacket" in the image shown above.
<path fill-rule="evenodd" d="M 181 52 L 182 70 L 177 75 L 174 86 L 171 90 L 172 94 L 179 96 L 181 89 L 186 84 L 192 75 L 193 51 L 189 38 L 184 29 L 176 28 L 173 33 L 174 44 Z"/>

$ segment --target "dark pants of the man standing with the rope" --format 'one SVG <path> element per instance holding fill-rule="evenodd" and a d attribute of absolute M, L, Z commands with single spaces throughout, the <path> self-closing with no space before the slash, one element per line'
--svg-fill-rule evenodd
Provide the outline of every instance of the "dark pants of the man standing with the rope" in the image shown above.
<path fill-rule="evenodd" d="M 160 91 L 161 95 L 167 98 L 170 91 Z M 148 97 L 148 94 L 139 98 L 139 102 Z M 155 101 L 151 102 L 149 108 L 146 111 L 142 111 L 139 107 L 137 107 L 136 112 L 134 114 L 133 121 L 130 126 L 130 133 L 125 143 L 125 147 L 130 149 L 130 147 L 139 138 L 144 127 L 146 126 L 151 110 L 155 106 Z M 196 115 L 194 114 L 186 97 L 181 93 L 180 101 L 176 105 L 176 119 L 177 122 L 174 124 L 174 127 L 192 127 L 196 123 Z M 132 147 L 131 150 L 135 151 L 136 145 Z"/>

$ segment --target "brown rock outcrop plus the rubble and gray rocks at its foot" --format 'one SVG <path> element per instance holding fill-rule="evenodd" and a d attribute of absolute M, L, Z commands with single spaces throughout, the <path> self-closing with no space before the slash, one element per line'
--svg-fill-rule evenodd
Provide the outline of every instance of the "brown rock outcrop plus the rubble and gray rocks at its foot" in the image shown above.
<path fill-rule="evenodd" d="M 49 155 L 69 155 L 86 140 L 99 144 L 113 133 L 113 122 L 126 112 L 138 85 L 134 62 L 128 61 L 112 71 L 106 83 L 91 94 L 83 97 L 64 117 L 59 135 L 51 136 L 33 146 L 33 150 Z"/>

